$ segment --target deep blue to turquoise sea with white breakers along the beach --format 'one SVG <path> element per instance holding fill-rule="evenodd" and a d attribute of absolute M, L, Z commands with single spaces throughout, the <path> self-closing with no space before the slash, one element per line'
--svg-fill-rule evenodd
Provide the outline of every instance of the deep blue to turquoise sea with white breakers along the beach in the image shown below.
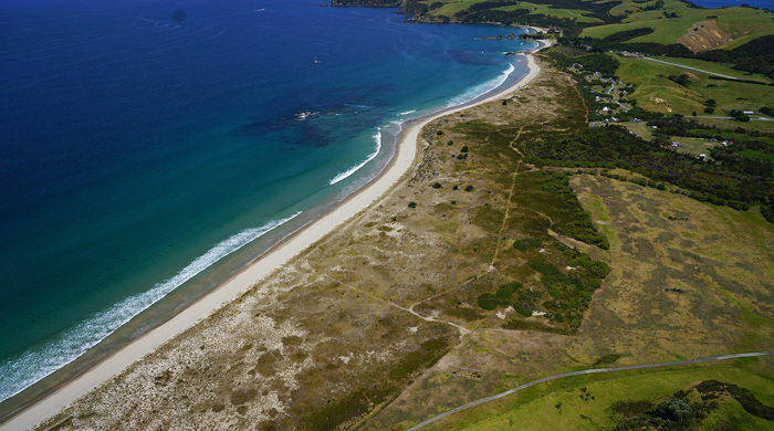
<path fill-rule="evenodd" d="M 239 269 L 533 46 L 317 3 L 0 3 L 0 400 Z"/>

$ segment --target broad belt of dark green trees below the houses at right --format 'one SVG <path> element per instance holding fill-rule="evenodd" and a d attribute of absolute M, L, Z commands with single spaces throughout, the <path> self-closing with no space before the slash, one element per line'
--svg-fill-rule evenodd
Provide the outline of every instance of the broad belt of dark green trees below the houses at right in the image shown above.
<path fill-rule="evenodd" d="M 674 120 L 673 120 L 674 122 Z M 656 120 L 648 125 L 663 124 Z M 765 170 L 765 161 L 707 162 L 695 157 L 665 150 L 668 141 L 645 141 L 623 127 L 589 128 L 557 139 L 536 139 L 524 146 L 525 161 L 537 166 L 624 168 L 656 182 L 668 182 L 693 199 L 735 209 L 759 206 L 774 222 L 774 183 L 772 176 L 753 175 Z M 757 168 L 751 168 L 751 166 Z M 746 171 L 745 171 L 746 169 Z M 751 170 L 752 169 L 752 170 Z M 746 172 L 746 174 L 745 174 Z"/>

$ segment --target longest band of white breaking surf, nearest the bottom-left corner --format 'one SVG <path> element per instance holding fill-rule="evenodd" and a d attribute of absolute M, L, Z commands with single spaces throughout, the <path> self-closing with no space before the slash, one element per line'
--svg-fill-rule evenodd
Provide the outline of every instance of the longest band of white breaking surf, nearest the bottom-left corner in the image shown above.
<path fill-rule="evenodd" d="M 81 322 L 62 335 L 60 339 L 0 365 L 0 401 L 21 392 L 73 361 L 182 283 L 266 232 L 294 219 L 300 213 L 301 211 L 286 219 L 274 220 L 260 228 L 251 228 L 237 233 L 194 260 L 174 277 L 156 284 L 148 292 L 129 296 L 111 308 Z"/>

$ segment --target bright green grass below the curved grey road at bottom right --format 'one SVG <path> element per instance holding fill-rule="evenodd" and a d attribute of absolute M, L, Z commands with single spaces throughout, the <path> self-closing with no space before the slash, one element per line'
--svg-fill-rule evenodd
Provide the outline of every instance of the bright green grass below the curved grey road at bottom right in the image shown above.
<path fill-rule="evenodd" d="M 584 430 L 610 429 L 615 421 L 607 409 L 617 400 L 650 400 L 658 403 L 670 398 L 676 391 L 704 380 L 732 382 L 752 391 L 764 404 L 772 404 L 771 376 L 760 376 L 734 365 L 697 368 L 672 368 L 648 372 L 626 371 L 611 375 L 600 374 L 586 378 L 568 378 L 525 393 L 511 396 L 501 403 L 501 410 L 492 411 L 477 407 L 452 416 L 430 429 L 457 430 L 509 430 L 529 427 L 530 430 Z M 594 396 L 587 401 L 579 396 L 580 388 Z M 561 408 L 556 408 L 557 403 Z M 771 422 L 752 417 L 744 410 L 735 409 L 736 401 L 729 402 L 730 411 L 721 410 L 719 417 L 732 416 L 750 427 L 740 429 L 766 429 Z M 720 423 L 720 418 L 711 416 L 711 423 Z M 457 423 L 453 423 L 457 422 Z M 460 423 L 462 422 L 462 423 Z"/>

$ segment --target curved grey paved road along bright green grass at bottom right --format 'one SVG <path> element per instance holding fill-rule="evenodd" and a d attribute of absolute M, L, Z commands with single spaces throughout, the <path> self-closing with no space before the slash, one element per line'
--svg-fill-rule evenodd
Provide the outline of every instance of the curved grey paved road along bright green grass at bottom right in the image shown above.
<path fill-rule="evenodd" d="M 625 367 L 592 368 L 592 369 L 584 369 L 584 370 L 578 370 L 578 371 L 563 372 L 563 374 L 561 374 L 561 375 L 554 375 L 554 376 L 544 377 L 544 378 L 542 378 L 542 379 L 532 380 L 532 381 L 530 381 L 530 382 L 527 382 L 527 383 L 520 385 L 520 386 L 517 386 L 517 387 L 515 387 L 515 388 L 512 388 L 512 389 L 509 389 L 509 390 L 506 390 L 506 391 L 504 391 L 504 392 L 500 392 L 500 393 L 498 393 L 498 395 L 494 395 L 494 396 L 491 396 L 491 397 L 487 397 L 487 398 L 481 398 L 481 399 L 475 400 L 475 401 L 473 401 L 473 402 L 469 402 L 469 403 L 467 403 L 467 404 L 464 404 L 464 406 L 460 406 L 460 407 L 458 407 L 458 408 L 456 408 L 456 409 L 452 409 L 452 410 L 449 410 L 449 411 L 443 412 L 443 413 L 441 413 L 441 414 L 438 414 L 438 416 L 436 416 L 436 417 L 432 417 L 432 418 L 426 420 L 425 422 L 418 423 L 418 424 L 416 424 L 416 425 L 409 428 L 407 431 L 418 430 L 418 429 L 420 429 L 420 428 L 422 428 L 422 427 L 425 427 L 425 425 L 429 425 L 430 423 L 432 423 L 432 422 L 435 422 L 435 421 L 437 421 L 437 420 L 440 420 L 440 419 L 443 419 L 443 418 L 446 418 L 446 417 L 448 417 L 448 416 L 451 416 L 451 414 L 453 414 L 453 413 L 457 413 L 458 411 L 461 411 L 461 410 L 464 410 L 464 409 L 469 409 L 469 408 L 471 408 L 471 407 L 475 407 L 475 406 L 479 406 L 479 404 L 483 404 L 484 402 L 493 401 L 493 400 L 496 400 L 496 399 L 499 399 L 499 398 L 506 397 L 506 396 L 509 396 L 509 395 L 511 395 L 511 393 L 513 393 L 513 392 L 517 392 L 517 391 L 520 391 L 520 390 L 522 390 L 522 389 L 526 389 L 526 388 L 529 388 L 529 387 L 531 387 L 531 386 L 535 386 L 535 385 L 542 383 L 542 382 L 544 382 L 544 381 L 556 380 L 556 379 L 561 379 L 561 378 L 563 378 L 563 377 L 580 376 L 580 375 L 592 375 L 592 374 L 596 374 L 596 372 L 608 372 L 608 371 L 626 371 L 626 370 L 630 370 L 630 369 L 640 369 L 640 368 L 669 367 L 669 366 L 674 366 L 674 365 L 688 365 L 688 364 L 697 364 L 697 362 L 709 362 L 709 361 L 711 361 L 711 360 L 723 360 L 723 359 L 734 359 L 734 358 L 747 358 L 747 357 L 751 357 L 751 356 L 768 356 L 768 355 L 774 355 L 774 351 L 755 351 L 755 353 L 751 353 L 751 354 L 735 354 L 735 355 L 712 356 L 712 357 L 709 357 L 709 358 L 698 358 L 698 359 L 688 359 L 688 360 L 674 360 L 674 361 L 671 361 L 671 362 L 627 365 L 627 366 L 625 366 Z"/>

